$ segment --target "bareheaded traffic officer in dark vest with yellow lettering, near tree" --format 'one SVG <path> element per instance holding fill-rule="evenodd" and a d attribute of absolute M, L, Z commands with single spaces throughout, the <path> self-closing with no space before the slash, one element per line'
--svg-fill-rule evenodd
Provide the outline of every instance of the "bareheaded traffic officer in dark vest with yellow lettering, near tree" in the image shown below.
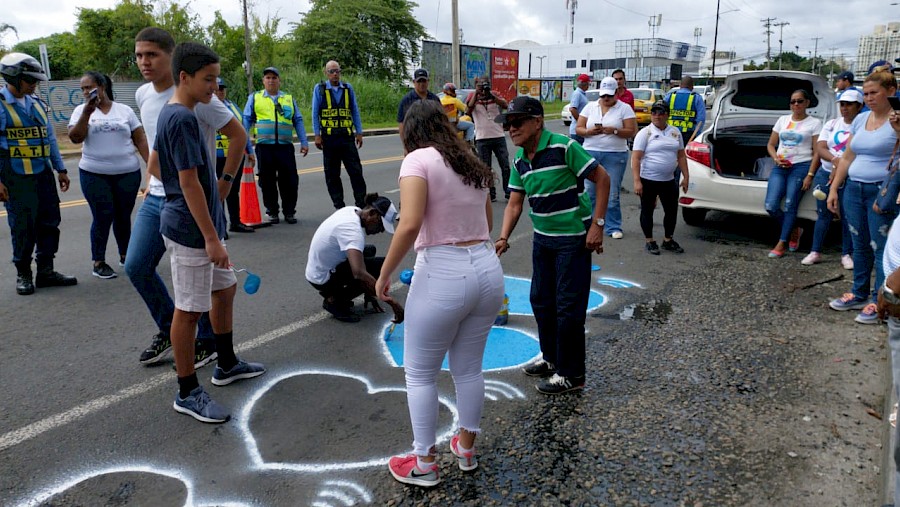
<path fill-rule="evenodd" d="M 357 208 L 365 207 L 366 180 L 357 148 L 362 148 L 362 120 L 356 93 L 350 83 L 341 81 L 341 66 L 334 60 L 325 64 L 325 78 L 313 88 L 313 132 L 316 148 L 322 150 L 325 166 L 325 185 L 335 209 L 344 207 L 344 186 L 341 184 L 341 162 L 350 177 L 353 201 Z M 356 132 L 354 139 L 354 132 Z"/>

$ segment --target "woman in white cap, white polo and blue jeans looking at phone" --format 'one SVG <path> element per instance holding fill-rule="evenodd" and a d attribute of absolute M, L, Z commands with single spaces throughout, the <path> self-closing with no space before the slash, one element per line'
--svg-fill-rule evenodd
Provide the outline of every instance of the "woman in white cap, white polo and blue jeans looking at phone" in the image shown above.
<path fill-rule="evenodd" d="M 637 118 L 631 106 L 616 99 L 618 84 L 613 77 L 600 81 L 600 98 L 590 102 L 578 116 L 575 133 L 584 137 L 584 149 L 609 173 L 609 204 L 606 207 L 607 236 L 622 238 L 622 208 L 619 189 L 628 164 L 628 139 L 637 132 Z M 597 206 L 594 184 L 584 182 L 591 197 L 591 209 Z"/>

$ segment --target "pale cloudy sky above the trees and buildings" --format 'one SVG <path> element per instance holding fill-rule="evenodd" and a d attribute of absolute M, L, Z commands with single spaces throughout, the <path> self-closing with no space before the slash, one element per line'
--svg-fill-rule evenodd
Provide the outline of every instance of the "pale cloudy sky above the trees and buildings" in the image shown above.
<path fill-rule="evenodd" d="M 184 0 L 178 0 L 185 3 Z M 735 50 L 739 56 L 755 57 L 766 52 L 764 18 L 772 23 L 789 23 L 783 27 L 784 51 L 796 51 L 809 56 L 814 51 L 815 37 L 818 53 L 829 55 L 856 54 L 860 35 L 872 33 L 876 24 L 900 21 L 900 5 L 893 0 L 854 2 L 796 2 L 784 0 L 720 0 L 719 50 Z M 277 15 L 283 19 L 282 30 L 289 23 L 301 19 L 309 8 L 306 0 L 250 0 L 252 9 L 265 17 Z M 3 43 L 13 45 L 55 32 L 72 31 L 79 7 L 111 7 L 116 0 L 29 0 L 30 12 L 24 9 L 4 9 L 0 23 L 8 23 L 18 30 L 18 39 L 8 34 Z M 708 49 L 713 47 L 716 19 L 715 0 L 666 0 L 664 2 L 633 2 L 629 0 L 577 0 L 575 40 L 593 37 L 609 48 L 613 56 L 613 41 L 650 37 L 648 21 L 662 14 L 656 36 L 676 41 L 696 41 Z M 218 9 L 231 24 L 239 24 L 240 0 L 193 0 L 190 8 L 198 13 L 204 24 Z M 451 0 L 420 0 L 414 15 L 428 32 L 439 41 L 450 40 Z M 565 41 L 568 11 L 566 0 L 459 0 L 459 23 L 464 41 L 475 45 L 501 46 L 516 39 L 530 39 L 541 44 Z M 772 54 L 778 52 L 779 28 L 772 27 Z M 895 55 L 900 56 L 900 55 Z"/>

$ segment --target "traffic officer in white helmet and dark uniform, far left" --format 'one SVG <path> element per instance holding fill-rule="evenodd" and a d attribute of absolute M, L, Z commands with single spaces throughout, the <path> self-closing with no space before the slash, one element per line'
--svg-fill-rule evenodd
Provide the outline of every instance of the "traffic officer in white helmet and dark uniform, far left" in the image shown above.
<path fill-rule="evenodd" d="M 9 53 L 0 59 L 0 201 L 6 205 L 18 277 L 16 292 L 23 296 L 38 288 L 75 285 L 74 276 L 53 270 L 59 249 L 59 189 L 69 190 L 53 124 L 36 97 L 38 81 L 47 81 L 41 64 L 25 53 Z M 35 247 L 37 247 L 35 251 Z M 31 254 L 37 260 L 32 277 Z"/>

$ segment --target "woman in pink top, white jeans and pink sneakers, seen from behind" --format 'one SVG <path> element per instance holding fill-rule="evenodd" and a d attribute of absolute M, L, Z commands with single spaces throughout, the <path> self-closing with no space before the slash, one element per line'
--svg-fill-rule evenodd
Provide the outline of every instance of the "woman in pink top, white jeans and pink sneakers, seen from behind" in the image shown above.
<path fill-rule="evenodd" d="M 410 106 L 403 122 L 407 156 L 400 167 L 400 222 L 375 289 L 391 302 L 391 275 L 413 247 L 416 269 L 406 298 L 403 363 L 413 452 L 391 458 L 398 481 L 438 484 L 435 461 L 437 375 L 449 352 L 459 433 L 450 450 L 461 470 L 474 470 L 475 435 L 484 405 L 481 372 L 487 335 L 503 299 L 503 270 L 490 243 L 493 176 L 444 111 L 428 101 Z"/>

